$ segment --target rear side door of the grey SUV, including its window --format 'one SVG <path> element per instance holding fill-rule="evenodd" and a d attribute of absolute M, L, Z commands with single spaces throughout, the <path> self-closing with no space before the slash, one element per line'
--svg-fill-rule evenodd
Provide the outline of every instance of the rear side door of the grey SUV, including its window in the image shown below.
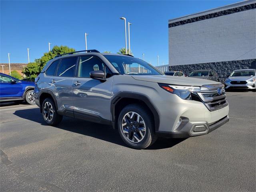
<path fill-rule="evenodd" d="M 51 76 L 49 81 L 50 89 L 57 100 L 58 110 L 65 112 L 67 116 L 73 116 L 72 108 L 74 102 L 72 97 L 72 84 L 76 71 L 77 59 L 77 56 L 61 59 L 58 62 L 58 68 L 55 75 Z"/>

